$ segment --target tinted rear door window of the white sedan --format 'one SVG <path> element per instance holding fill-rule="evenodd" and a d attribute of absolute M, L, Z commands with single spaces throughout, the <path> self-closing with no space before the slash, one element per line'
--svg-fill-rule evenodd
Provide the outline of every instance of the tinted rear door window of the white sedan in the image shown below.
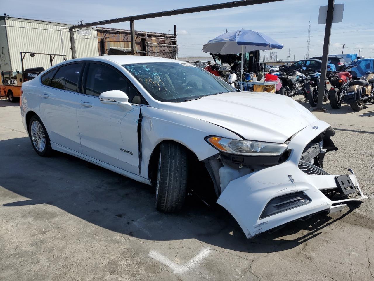
<path fill-rule="evenodd" d="M 77 84 L 83 63 L 61 66 L 53 77 L 50 86 L 62 90 L 77 92 Z"/>

